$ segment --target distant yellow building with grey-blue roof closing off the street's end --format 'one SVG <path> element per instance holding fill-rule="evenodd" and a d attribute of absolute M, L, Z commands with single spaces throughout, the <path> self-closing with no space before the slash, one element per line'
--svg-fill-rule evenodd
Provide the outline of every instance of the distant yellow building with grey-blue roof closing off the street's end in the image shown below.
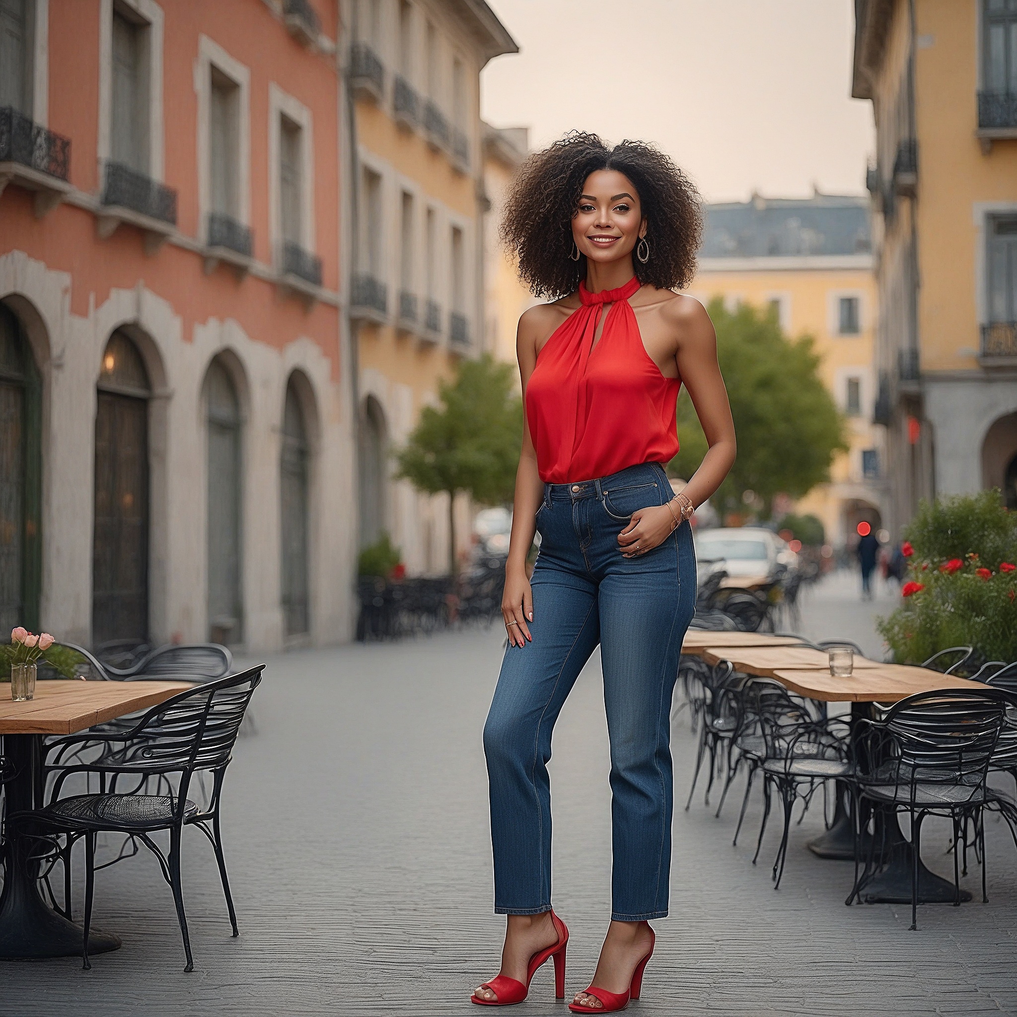
<path fill-rule="evenodd" d="M 817 516 L 827 541 L 842 546 L 860 520 L 882 524 L 884 512 L 885 473 L 872 424 L 877 293 L 868 201 L 754 195 L 704 212 L 699 271 L 687 292 L 703 303 L 721 297 L 729 309 L 743 303 L 772 309 L 785 335 L 815 340 L 850 447 L 835 458 L 830 482 L 794 511 Z"/>

